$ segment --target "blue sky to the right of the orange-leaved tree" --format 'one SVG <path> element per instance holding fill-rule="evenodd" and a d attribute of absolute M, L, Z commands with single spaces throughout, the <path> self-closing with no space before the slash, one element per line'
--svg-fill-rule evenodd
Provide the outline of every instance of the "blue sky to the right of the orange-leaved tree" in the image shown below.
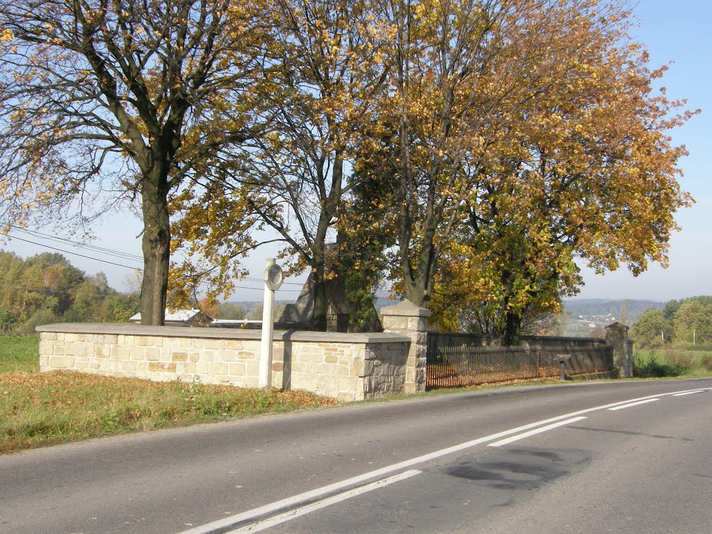
<path fill-rule="evenodd" d="M 661 82 L 669 98 L 686 98 L 690 109 L 702 110 L 672 133 L 674 142 L 690 153 L 679 164 L 681 185 L 696 204 L 676 216 L 682 231 L 671 239 L 668 269 L 653 265 L 637 278 L 625 270 L 604 276 L 585 270 L 580 297 L 670 300 L 712 295 L 712 2 L 640 0 L 636 11 L 640 26 L 633 35 L 648 46 L 651 66 L 671 63 Z"/>

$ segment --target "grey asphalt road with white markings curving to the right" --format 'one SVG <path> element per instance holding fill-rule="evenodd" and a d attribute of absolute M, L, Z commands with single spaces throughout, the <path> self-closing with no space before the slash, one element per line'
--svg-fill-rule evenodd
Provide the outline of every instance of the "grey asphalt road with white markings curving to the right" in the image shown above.
<path fill-rule="evenodd" d="M 0 534 L 258 531 L 711 533 L 712 379 L 449 394 L 0 456 Z"/>

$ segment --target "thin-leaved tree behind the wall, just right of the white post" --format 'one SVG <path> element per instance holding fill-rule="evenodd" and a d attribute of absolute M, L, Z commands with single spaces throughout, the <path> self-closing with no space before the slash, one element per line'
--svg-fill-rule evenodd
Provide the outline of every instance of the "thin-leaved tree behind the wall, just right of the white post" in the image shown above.
<path fill-rule="evenodd" d="M 294 271 L 314 280 L 313 325 L 325 330 L 326 284 L 333 277 L 335 226 L 357 183 L 354 147 L 372 125 L 376 96 L 385 85 L 384 28 L 367 0 L 273 0 L 266 9 L 269 39 L 263 50 L 256 100 L 270 115 L 268 129 L 223 162 L 186 194 L 177 211 L 182 246 L 206 260 L 204 268 L 177 268 L 176 286 L 231 290 L 229 261 L 257 246 L 255 228 L 276 232 Z M 218 172 L 222 172 L 221 175 Z M 229 221 L 205 209 L 220 199 Z M 200 228 L 201 231 L 195 231 Z"/>

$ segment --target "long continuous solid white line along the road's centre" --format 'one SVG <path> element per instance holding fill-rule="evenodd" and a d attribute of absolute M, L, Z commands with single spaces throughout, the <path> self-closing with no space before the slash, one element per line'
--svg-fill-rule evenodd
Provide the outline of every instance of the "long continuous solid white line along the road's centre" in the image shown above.
<path fill-rule="evenodd" d="M 708 391 L 708 390 L 712 390 L 712 388 L 706 388 L 704 390 Z M 686 393 L 686 392 L 691 392 L 691 391 L 698 391 L 698 390 L 697 389 L 687 389 L 684 391 L 674 392 L 674 393 Z M 305 491 L 304 493 L 299 493 L 298 495 L 281 499 L 281 501 L 275 501 L 273 503 L 268 503 L 264 506 L 259 506 L 258 508 L 253 508 L 252 510 L 248 510 L 245 512 L 238 513 L 236 515 L 231 515 L 227 518 L 222 518 L 222 519 L 213 521 L 212 523 L 206 523 L 205 525 L 194 527 L 194 528 L 191 528 L 190 530 L 184 530 L 183 532 L 181 532 L 179 534 L 224 533 L 229 528 L 231 528 L 233 525 L 236 525 L 237 523 L 242 523 L 243 521 L 246 521 L 246 520 L 258 518 L 261 515 L 267 515 L 269 513 L 278 512 L 278 511 L 284 510 L 286 508 L 293 508 L 295 506 L 299 506 L 301 504 L 308 503 L 309 501 L 313 501 L 316 498 L 326 496 L 329 493 L 334 493 L 335 491 L 339 491 L 339 490 L 349 488 L 352 486 L 357 486 L 358 484 L 365 482 L 367 480 L 370 480 L 371 478 L 386 476 L 386 475 L 389 475 L 390 473 L 395 473 L 397 471 L 401 471 L 402 469 L 410 468 L 410 467 L 416 466 L 418 464 L 423 464 L 426 461 L 439 459 L 442 456 L 447 456 L 448 454 L 453 454 L 453 453 L 456 453 L 459 451 L 464 451 L 466 449 L 471 449 L 473 446 L 481 445 L 483 443 L 487 443 L 488 441 L 495 441 L 496 439 L 500 439 L 500 438 L 503 438 L 506 436 L 511 436 L 512 434 L 518 434 L 520 432 L 536 428 L 537 426 L 542 426 L 545 424 L 562 421 L 563 419 L 570 419 L 571 417 L 577 417 L 582 414 L 590 414 L 591 412 L 598 412 L 600 410 L 609 409 L 611 407 L 621 406 L 622 404 L 629 404 L 631 402 L 652 399 L 654 397 L 655 398 L 656 397 L 665 397 L 667 395 L 671 395 L 674 393 L 672 393 L 672 392 L 671 393 L 662 393 L 662 394 L 658 394 L 658 395 L 649 395 L 648 397 L 639 397 L 637 399 L 628 399 L 628 400 L 619 401 L 619 402 L 612 402 L 611 404 L 604 404 L 602 406 L 596 406 L 596 407 L 592 407 L 592 408 L 578 410 L 577 412 L 571 412 L 570 414 L 563 414 L 563 415 L 559 415 L 557 417 L 551 417 L 550 419 L 543 419 L 543 421 L 537 421 L 534 423 L 525 424 L 523 426 L 518 426 L 517 428 L 514 428 L 514 429 L 504 430 L 501 432 L 497 432 L 496 434 L 491 434 L 489 436 L 484 436 L 482 438 L 473 439 L 471 441 L 465 441 L 464 443 L 454 445 L 451 447 L 447 447 L 446 449 L 440 449 L 439 451 L 434 451 L 429 454 L 424 454 L 422 456 L 416 456 L 415 458 L 411 458 L 409 460 L 400 461 L 397 464 L 391 464 L 389 466 L 375 469 L 374 471 L 369 471 L 367 473 L 363 473 L 362 475 L 354 476 L 352 478 L 347 478 L 340 482 L 335 482 L 333 484 L 329 484 L 328 486 L 323 486 L 321 488 L 315 488 L 311 491 Z"/>

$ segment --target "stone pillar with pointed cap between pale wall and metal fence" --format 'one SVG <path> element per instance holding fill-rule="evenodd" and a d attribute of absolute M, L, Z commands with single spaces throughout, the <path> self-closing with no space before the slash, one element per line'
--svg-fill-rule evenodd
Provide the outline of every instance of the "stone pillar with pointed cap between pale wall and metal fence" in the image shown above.
<path fill-rule="evenodd" d="M 430 310 L 420 308 L 410 300 L 381 309 L 383 331 L 408 335 L 411 338 L 404 393 L 425 391 L 425 367 L 428 351 L 428 318 Z"/>

